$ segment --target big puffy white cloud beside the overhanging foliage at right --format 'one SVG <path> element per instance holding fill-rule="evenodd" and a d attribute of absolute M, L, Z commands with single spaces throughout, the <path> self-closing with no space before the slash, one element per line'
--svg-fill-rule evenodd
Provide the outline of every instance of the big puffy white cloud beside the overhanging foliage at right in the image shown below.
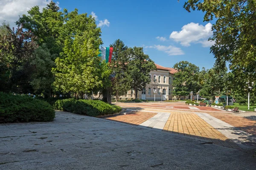
<path fill-rule="evenodd" d="M 201 43 L 203 47 L 209 47 L 214 42 L 208 42 L 212 37 L 212 24 L 207 23 L 205 26 L 199 23 L 189 23 L 181 28 L 181 31 L 173 31 L 170 39 L 180 42 L 183 46 L 190 46 L 191 43 Z"/>

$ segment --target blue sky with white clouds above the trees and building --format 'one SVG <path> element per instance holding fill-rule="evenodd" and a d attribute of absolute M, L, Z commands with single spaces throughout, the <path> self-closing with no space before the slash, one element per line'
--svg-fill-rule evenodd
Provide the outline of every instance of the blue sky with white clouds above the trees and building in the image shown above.
<path fill-rule="evenodd" d="M 0 11 L 3 11 L 0 12 L 0 20 L 13 23 L 18 14 L 24 14 L 35 5 L 42 8 L 48 2 L 49 0 L 3 1 L 0 3 Z M 103 46 L 109 46 L 120 39 L 128 47 L 143 46 L 145 54 L 165 67 L 187 60 L 200 69 L 211 68 L 215 59 L 209 53 L 212 42 L 207 42 L 207 39 L 212 36 L 212 23 L 203 22 L 204 14 L 201 11 L 188 13 L 183 8 L 184 2 L 185 0 L 180 0 L 179 3 L 177 0 L 58 0 L 58 5 L 68 11 L 78 8 L 79 13 L 94 12 L 96 22 L 102 28 Z M 15 12 L 10 12 L 12 8 Z M 4 13 L 5 9 L 9 12 Z"/>

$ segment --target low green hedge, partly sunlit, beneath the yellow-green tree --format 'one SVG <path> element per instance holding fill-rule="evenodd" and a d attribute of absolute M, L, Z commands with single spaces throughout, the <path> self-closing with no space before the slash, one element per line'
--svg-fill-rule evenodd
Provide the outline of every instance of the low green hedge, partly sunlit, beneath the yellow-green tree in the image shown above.
<path fill-rule="evenodd" d="M 63 99 L 57 100 L 53 105 L 54 109 L 61 111 L 68 111 L 72 113 L 87 115 L 87 116 L 101 116 L 106 114 L 113 114 L 122 111 L 122 108 L 116 105 L 99 100 L 76 100 Z"/>

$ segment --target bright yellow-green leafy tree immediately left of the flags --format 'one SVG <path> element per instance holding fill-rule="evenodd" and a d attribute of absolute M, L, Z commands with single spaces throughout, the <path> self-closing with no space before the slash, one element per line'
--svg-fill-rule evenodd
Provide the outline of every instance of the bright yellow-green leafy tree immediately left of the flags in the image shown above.
<path fill-rule="evenodd" d="M 92 94 L 110 74 L 103 71 L 105 64 L 97 57 L 102 44 L 101 31 L 94 18 L 87 14 L 78 14 L 76 9 L 70 13 L 64 10 L 64 13 L 67 30 L 61 33 L 65 35 L 63 52 L 55 60 L 56 68 L 52 69 L 54 85 L 58 91 Z"/>

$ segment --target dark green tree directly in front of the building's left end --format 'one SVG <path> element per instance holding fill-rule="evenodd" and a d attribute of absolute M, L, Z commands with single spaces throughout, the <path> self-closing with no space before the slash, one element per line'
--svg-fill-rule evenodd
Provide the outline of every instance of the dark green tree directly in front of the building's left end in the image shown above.
<path fill-rule="evenodd" d="M 135 91 L 135 99 L 138 99 L 138 91 L 150 82 L 149 73 L 156 69 L 154 62 L 144 54 L 142 47 L 129 49 L 128 79 L 131 81 L 131 89 Z"/>

